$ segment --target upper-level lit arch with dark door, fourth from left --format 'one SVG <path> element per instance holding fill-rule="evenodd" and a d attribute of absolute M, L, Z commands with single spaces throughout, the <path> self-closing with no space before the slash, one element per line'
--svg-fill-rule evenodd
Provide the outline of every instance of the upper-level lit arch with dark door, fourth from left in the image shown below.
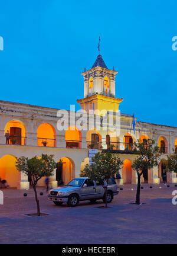
<path fill-rule="evenodd" d="M 87 147 L 91 149 L 100 149 L 101 135 L 96 129 L 91 129 L 87 132 L 86 136 Z"/>

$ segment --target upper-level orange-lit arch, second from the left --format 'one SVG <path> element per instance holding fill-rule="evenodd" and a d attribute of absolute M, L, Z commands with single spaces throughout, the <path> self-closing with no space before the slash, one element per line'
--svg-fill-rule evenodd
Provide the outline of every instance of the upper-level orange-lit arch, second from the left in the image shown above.
<path fill-rule="evenodd" d="M 37 130 L 38 146 L 56 146 L 55 128 L 49 123 L 40 124 Z"/>

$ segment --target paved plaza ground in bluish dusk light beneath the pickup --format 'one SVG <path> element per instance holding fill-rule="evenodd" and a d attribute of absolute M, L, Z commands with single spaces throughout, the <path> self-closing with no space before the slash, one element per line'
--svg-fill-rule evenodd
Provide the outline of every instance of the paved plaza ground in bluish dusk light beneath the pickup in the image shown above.
<path fill-rule="evenodd" d="M 47 201 L 45 188 L 39 195 L 42 213 L 36 212 L 34 191 L 4 189 L 0 205 L 0 244 L 177 244 L 177 205 L 172 204 L 174 184 L 143 184 L 141 201 L 135 201 L 136 185 L 124 185 L 109 204 L 80 202 L 77 207 L 55 206 Z M 161 188 L 159 188 L 161 187 Z M 24 197 L 23 194 L 28 196 Z"/>

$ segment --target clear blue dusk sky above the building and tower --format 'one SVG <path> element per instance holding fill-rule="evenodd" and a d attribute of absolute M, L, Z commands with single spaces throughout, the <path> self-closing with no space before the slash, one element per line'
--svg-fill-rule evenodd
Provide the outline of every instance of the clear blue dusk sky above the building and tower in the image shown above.
<path fill-rule="evenodd" d="M 0 100 L 78 110 L 101 36 L 121 112 L 177 127 L 176 9 L 176 0 L 1 1 Z"/>

